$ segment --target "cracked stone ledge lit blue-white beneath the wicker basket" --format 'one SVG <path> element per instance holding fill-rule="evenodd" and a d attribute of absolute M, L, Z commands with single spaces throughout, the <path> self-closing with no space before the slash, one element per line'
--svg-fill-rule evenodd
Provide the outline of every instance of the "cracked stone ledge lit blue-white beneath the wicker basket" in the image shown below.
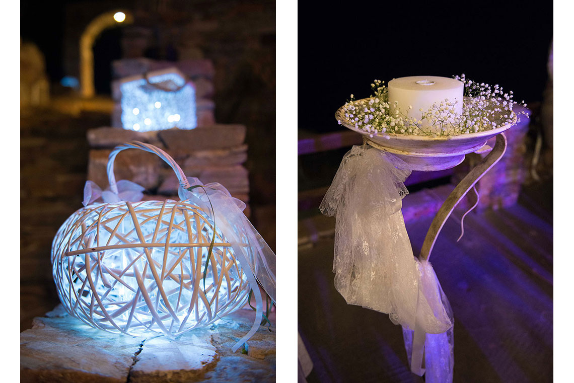
<path fill-rule="evenodd" d="M 274 327 L 261 326 L 247 347 L 231 353 L 254 315 L 239 310 L 175 339 L 133 338 L 93 329 L 60 305 L 21 333 L 21 382 L 274 382 Z"/>

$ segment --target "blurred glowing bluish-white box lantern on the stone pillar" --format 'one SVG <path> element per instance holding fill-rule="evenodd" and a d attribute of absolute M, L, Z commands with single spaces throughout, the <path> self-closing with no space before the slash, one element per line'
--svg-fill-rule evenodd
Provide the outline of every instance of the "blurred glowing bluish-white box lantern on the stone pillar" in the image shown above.
<path fill-rule="evenodd" d="M 195 87 L 176 68 L 127 77 L 119 86 L 124 129 L 146 132 L 197 126 Z"/>

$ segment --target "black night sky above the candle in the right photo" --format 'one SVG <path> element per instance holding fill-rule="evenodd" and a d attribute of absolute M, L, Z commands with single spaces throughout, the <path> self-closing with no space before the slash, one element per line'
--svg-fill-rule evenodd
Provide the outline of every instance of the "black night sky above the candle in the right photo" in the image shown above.
<path fill-rule="evenodd" d="M 552 33 L 552 2 L 309 2 L 298 14 L 298 125 L 340 129 L 334 114 L 351 93 L 393 77 L 465 73 L 540 101 Z"/>

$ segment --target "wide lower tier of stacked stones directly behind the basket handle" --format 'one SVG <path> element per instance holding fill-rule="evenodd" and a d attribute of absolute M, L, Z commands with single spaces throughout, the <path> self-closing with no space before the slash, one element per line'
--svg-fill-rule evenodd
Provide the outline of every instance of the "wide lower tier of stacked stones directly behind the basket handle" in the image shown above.
<path fill-rule="evenodd" d="M 219 182 L 233 197 L 249 202 L 249 174 L 243 166 L 247 160 L 243 125 L 215 124 L 192 130 L 151 132 L 101 127 L 89 130 L 87 138 L 91 147 L 88 179 L 102 188 L 108 185 L 106 166 L 111 150 L 121 143 L 138 140 L 165 150 L 188 177 L 197 177 L 203 183 Z M 179 184 L 173 170 L 156 155 L 123 151 L 115 159 L 114 173 L 117 180 L 129 179 L 144 186 L 148 200 L 179 200 Z"/>

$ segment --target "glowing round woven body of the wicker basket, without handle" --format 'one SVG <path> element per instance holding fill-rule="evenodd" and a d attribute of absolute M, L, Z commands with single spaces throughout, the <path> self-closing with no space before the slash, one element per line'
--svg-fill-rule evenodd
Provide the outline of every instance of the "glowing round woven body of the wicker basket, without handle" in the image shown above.
<path fill-rule="evenodd" d="M 208 259 L 207 251 L 193 247 L 191 239 L 201 243 L 201 239 L 213 235 L 212 228 L 216 227 L 210 217 L 202 214 L 203 210 L 176 201 L 166 202 L 165 208 L 163 201 L 134 205 L 135 216 L 130 215 L 123 201 L 80 209 L 56 234 L 53 276 L 60 300 L 73 316 L 113 333 L 179 335 L 194 327 L 208 326 L 247 302 L 247 276 L 221 230 L 215 229 L 214 260 Z M 195 222 L 205 223 L 197 228 Z M 237 229 L 242 233 L 241 227 Z M 165 243 L 150 248 L 138 245 L 142 241 L 138 232 L 150 240 L 156 233 L 153 238 L 157 243 L 168 241 L 169 251 L 165 251 Z M 89 247 L 109 247 L 92 253 L 84 249 L 83 240 L 88 240 Z M 74 251 L 77 255 L 67 255 Z M 251 250 L 247 254 L 251 256 Z M 165 268 L 161 267 L 162 259 Z M 198 286 L 194 281 L 207 263 L 210 267 Z M 146 272 L 150 264 L 165 275 L 158 283 L 150 283 L 153 276 Z M 140 293 L 144 283 L 145 295 Z M 205 300 L 196 298 L 198 291 L 206 291 Z M 165 300 L 145 296 L 161 296 Z M 211 306 L 205 302 L 211 302 Z M 131 307 L 137 310 L 130 312 Z"/>

